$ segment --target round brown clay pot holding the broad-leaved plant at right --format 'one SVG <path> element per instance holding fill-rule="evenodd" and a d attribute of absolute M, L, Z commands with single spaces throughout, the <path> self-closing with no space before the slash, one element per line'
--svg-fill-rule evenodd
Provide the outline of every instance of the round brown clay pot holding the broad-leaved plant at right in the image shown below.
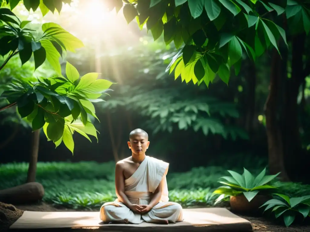
<path fill-rule="evenodd" d="M 259 207 L 270 199 L 270 196 L 256 195 L 249 202 L 243 194 L 230 196 L 231 211 L 238 213 L 256 213 L 259 211 Z"/>

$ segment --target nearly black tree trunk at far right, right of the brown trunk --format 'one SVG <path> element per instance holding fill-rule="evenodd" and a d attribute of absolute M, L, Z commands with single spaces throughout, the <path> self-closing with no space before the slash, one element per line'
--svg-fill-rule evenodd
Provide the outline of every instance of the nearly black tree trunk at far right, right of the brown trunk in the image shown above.
<path fill-rule="evenodd" d="M 302 146 L 299 133 L 297 97 L 300 85 L 303 83 L 303 52 L 305 44 L 305 35 L 295 36 L 292 40 L 292 74 L 286 85 L 286 94 L 283 107 L 283 145 L 284 159 L 288 175 L 297 180 L 301 171 L 298 167 L 302 162 Z"/>

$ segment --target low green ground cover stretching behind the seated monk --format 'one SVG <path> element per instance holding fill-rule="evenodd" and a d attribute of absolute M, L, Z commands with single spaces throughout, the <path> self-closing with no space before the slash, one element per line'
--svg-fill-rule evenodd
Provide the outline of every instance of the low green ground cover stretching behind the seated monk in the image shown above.
<path fill-rule="evenodd" d="M 251 161 L 251 160 L 249 160 Z M 232 162 L 228 162 L 233 164 Z M 259 162 L 250 163 L 258 164 Z M 229 165 L 193 168 L 185 173 L 168 173 L 167 183 L 169 198 L 184 207 L 192 205 L 212 205 L 216 197 L 211 193 L 221 184 L 218 179 L 228 175 L 226 170 L 243 172 L 242 165 L 234 168 Z M 258 174 L 263 167 L 246 168 L 253 174 Z M 114 201 L 114 162 L 49 162 L 38 163 L 37 181 L 45 188 L 43 200 L 55 206 L 66 208 L 98 209 L 102 204 Z M 0 166 L 0 189 L 14 187 L 26 182 L 27 163 L 10 163 Z M 274 183 L 281 191 L 290 196 L 307 195 L 309 185 L 300 183 Z"/>

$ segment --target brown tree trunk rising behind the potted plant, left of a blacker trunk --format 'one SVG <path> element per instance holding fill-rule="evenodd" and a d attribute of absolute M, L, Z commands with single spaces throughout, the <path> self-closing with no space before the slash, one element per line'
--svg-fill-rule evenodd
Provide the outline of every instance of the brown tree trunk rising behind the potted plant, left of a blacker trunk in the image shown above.
<path fill-rule="evenodd" d="M 281 172 L 279 176 L 282 181 L 289 181 L 284 165 L 281 125 L 277 120 L 279 90 L 281 89 L 281 84 L 283 84 L 281 83 L 283 81 L 281 77 L 281 57 L 277 53 L 277 50 L 274 49 L 270 72 L 269 95 L 264 106 L 268 139 L 268 165 L 271 174 Z"/>

